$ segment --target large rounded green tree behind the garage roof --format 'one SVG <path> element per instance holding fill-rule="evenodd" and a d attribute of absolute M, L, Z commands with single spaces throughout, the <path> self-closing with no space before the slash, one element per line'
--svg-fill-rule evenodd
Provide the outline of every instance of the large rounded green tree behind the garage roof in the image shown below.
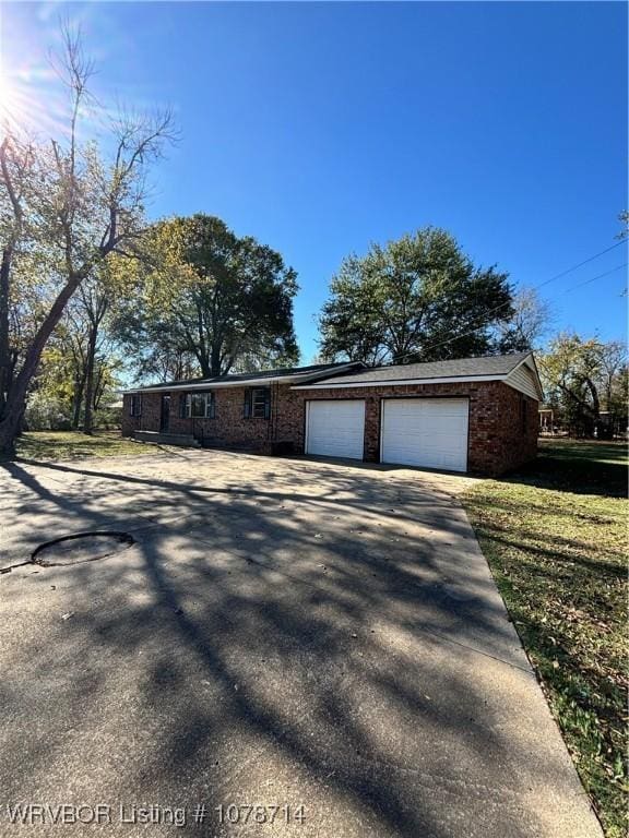
<path fill-rule="evenodd" d="M 512 315 L 507 274 L 473 264 L 446 230 L 425 227 L 345 259 L 320 316 L 321 354 L 366 363 L 485 355 Z"/>

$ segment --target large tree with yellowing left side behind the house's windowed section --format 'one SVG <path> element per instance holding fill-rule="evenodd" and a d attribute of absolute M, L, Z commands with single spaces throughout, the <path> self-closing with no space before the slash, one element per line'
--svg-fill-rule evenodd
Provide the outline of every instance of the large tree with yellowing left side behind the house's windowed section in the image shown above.
<path fill-rule="evenodd" d="M 152 231 L 152 267 L 118 319 L 142 375 L 204 378 L 293 363 L 296 273 L 280 253 L 219 218 L 170 218 Z"/>

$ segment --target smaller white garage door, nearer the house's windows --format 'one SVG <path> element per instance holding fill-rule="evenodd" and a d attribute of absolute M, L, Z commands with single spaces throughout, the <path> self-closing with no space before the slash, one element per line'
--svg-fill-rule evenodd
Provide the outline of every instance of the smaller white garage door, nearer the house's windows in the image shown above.
<path fill-rule="evenodd" d="M 308 402 L 307 454 L 363 459 L 364 440 L 365 402 L 361 399 Z"/>

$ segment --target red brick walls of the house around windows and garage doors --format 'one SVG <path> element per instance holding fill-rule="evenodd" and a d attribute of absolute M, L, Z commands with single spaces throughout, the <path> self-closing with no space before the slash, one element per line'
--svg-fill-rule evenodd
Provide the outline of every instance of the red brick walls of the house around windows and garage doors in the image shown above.
<path fill-rule="evenodd" d="M 462 396 L 470 399 L 470 471 L 498 475 L 514 469 L 537 453 L 537 402 L 501 382 L 406 384 L 332 390 L 290 390 L 271 385 L 271 418 L 245 419 L 245 387 L 218 387 L 214 419 L 180 419 L 179 395 L 171 394 L 170 432 L 203 435 L 207 443 L 246 447 L 261 453 L 271 444 L 285 442 L 304 452 L 305 402 L 320 398 L 361 398 L 365 411 L 365 454 L 368 462 L 380 458 L 380 402 L 394 396 Z M 130 396 L 124 396 L 122 433 L 159 429 L 159 393 L 143 395 L 142 416 L 129 416 Z M 524 408 L 522 408 L 522 403 Z M 525 420 L 522 410 L 525 410 Z"/>

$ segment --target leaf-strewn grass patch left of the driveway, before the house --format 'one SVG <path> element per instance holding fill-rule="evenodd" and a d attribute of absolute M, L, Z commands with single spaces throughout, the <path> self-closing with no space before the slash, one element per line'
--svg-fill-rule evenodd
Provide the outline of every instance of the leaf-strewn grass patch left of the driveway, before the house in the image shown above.
<path fill-rule="evenodd" d="M 157 445 L 142 445 L 120 435 L 99 431 L 92 436 L 76 431 L 27 431 L 17 440 L 16 453 L 26 459 L 76 459 L 118 457 L 126 454 L 158 454 Z"/>

